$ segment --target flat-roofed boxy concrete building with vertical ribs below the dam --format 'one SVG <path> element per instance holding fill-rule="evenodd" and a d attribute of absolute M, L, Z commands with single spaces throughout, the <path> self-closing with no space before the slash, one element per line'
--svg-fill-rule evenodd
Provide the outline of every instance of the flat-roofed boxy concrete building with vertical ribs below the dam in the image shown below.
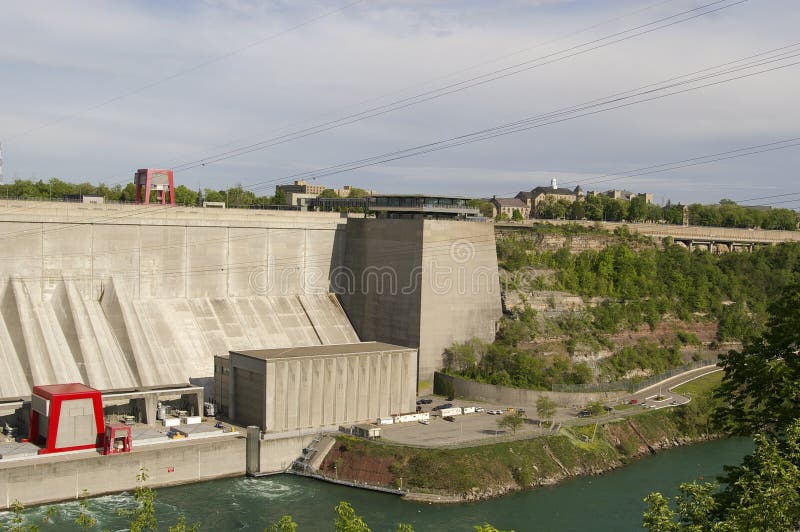
<path fill-rule="evenodd" d="M 230 418 L 266 431 L 375 420 L 413 412 L 417 351 L 382 342 L 231 351 Z M 222 366 L 216 366 L 222 367 Z"/>

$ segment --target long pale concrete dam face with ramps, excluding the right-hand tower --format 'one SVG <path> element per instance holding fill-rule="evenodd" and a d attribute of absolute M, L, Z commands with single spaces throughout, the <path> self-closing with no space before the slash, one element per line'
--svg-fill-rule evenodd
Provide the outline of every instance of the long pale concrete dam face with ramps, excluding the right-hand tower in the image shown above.
<path fill-rule="evenodd" d="M 0 204 L 0 398 L 195 382 L 230 349 L 358 341 L 330 293 L 346 219 Z"/>

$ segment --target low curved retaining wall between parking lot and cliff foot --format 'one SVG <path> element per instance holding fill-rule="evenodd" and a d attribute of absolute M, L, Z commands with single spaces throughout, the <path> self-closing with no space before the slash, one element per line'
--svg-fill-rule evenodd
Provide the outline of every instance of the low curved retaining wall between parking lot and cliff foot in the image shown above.
<path fill-rule="evenodd" d="M 573 393 L 524 390 L 521 388 L 510 388 L 507 386 L 470 381 L 443 373 L 439 373 L 438 375 L 438 378 L 446 381 L 449 380 L 453 383 L 456 397 L 468 399 L 470 401 L 485 401 L 497 405 L 535 406 L 536 400 L 542 395 L 546 395 L 555 401 L 558 406 L 571 408 L 575 405 L 586 405 L 591 401 L 608 401 L 627 395 L 626 392 L 622 391 Z"/>

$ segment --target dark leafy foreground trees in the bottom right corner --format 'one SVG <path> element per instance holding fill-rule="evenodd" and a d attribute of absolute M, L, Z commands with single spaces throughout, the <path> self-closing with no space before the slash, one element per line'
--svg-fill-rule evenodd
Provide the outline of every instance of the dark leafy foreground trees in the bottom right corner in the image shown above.
<path fill-rule="evenodd" d="M 800 528 L 800 267 L 769 310 L 764 333 L 721 358 L 714 411 L 727 430 L 755 433 L 755 451 L 728 467 L 719 483 L 682 484 L 674 505 L 651 493 L 648 530 Z"/>

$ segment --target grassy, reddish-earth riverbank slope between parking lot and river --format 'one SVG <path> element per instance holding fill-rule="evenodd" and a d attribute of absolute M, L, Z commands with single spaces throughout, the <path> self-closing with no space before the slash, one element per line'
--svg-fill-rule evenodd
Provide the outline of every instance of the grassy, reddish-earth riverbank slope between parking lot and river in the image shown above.
<path fill-rule="evenodd" d="M 529 440 L 422 449 L 340 436 L 320 473 L 403 490 L 408 500 L 423 502 L 477 501 L 599 475 L 651 453 L 719 437 L 709 423 L 718 380 L 709 376 L 693 381 L 693 400 L 681 407 L 564 427 Z"/>

